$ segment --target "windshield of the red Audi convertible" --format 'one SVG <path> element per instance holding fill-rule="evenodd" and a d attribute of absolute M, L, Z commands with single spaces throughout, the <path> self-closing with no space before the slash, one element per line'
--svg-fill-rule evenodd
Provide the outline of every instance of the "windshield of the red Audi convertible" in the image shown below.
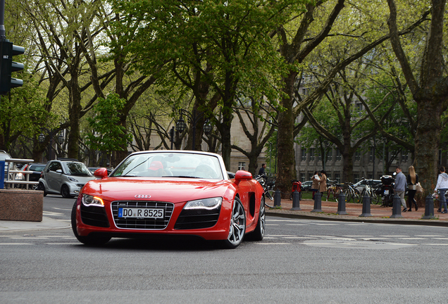
<path fill-rule="evenodd" d="M 217 157 L 194 153 L 139 153 L 120 164 L 111 177 L 223 179 Z"/>

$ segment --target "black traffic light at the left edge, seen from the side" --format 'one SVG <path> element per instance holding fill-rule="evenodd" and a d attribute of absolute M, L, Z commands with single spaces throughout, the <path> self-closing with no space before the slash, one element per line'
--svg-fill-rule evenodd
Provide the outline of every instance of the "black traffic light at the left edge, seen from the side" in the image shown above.
<path fill-rule="evenodd" d="M 7 39 L 0 41 L 0 94 L 5 95 L 11 88 L 22 87 L 23 80 L 11 77 L 11 72 L 23 70 L 23 63 L 13 61 L 13 56 L 25 53 L 25 48 L 16 46 Z"/>

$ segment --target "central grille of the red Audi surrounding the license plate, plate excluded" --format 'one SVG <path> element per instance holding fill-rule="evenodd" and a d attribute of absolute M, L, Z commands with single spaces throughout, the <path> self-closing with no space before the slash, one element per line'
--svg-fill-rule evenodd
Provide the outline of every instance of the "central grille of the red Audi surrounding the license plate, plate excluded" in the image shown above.
<path fill-rule="evenodd" d="M 173 214 L 174 204 L 154 201 L 114 201 L 111 204 L 113 221 L 118 228 L 124 229 L 165 229 Z M 161 208 L 164 210 L 162 219 L 120 219 L 118 207 Z"/>

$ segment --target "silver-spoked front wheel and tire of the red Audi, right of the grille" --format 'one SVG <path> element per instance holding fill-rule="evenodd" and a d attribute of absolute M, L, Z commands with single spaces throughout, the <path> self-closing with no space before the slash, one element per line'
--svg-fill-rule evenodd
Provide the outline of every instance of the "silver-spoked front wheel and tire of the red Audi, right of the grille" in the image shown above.
<path fill-rule="evenodd" d="M 246 233 L 246 214 L 244 213 L 244 207 L 239 200 L 235 197 L 232 207 L 232 215 L 230 217 L 229 235 L 227 239 L 222 241 L 224 248 L 233 249 L 237 248 L 244 238 Z"/>

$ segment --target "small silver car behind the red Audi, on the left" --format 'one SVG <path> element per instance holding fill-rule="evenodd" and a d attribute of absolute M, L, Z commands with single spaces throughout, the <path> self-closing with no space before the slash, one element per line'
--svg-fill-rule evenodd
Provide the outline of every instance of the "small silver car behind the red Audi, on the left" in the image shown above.
<path fill-rule="evenodd" d="M 37 190 L 44 191 L 44 196 L 61 194 L 65 198 L 70 198 L 77 196 L 85 183 L 92 179 L 96 177 L 84 163 L 73 158 L 59 158 L 46 163 Z"/>

